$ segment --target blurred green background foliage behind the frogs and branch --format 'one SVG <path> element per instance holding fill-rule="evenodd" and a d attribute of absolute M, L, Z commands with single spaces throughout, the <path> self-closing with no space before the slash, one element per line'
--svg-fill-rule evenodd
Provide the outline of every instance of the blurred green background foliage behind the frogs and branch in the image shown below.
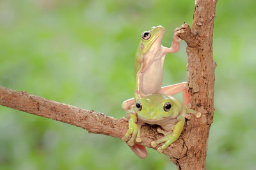
<path fill-rule="evenodd" d="M 218 1 L 215 114 L 207 169 L 256 169 L 256 1 Z M 0 85 L 122 118 L 133 96 L 142 31 L 191 24 L 194 1 L 0 1 Z M 186 43 L 168 54 L 164 85 L 186 81 Z M 176 169 L 148 149 L 0 106 L 0 169 Z"/>

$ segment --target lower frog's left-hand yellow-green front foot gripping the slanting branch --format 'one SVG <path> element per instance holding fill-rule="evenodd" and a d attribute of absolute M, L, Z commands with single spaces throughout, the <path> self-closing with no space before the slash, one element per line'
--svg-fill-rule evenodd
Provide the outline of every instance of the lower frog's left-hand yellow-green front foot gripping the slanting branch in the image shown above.
<path fill-rule="evenodd" d="M 131 136 L 131 139 L 129 139 L 130 136 Z M 127 142 L 129 146 L 134 146 L 134 141 L 140 143 L 141 142 L 140 125 L 134 122 L 129 122 L 129 129 L 125 133 L 124 137 L 122 138 L 122 141 Z"/>

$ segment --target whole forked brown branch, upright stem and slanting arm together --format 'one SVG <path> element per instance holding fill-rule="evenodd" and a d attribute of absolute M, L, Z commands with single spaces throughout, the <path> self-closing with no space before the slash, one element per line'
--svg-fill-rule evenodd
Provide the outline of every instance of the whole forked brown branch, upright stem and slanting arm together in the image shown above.
<path fill-rule="evenodd" d="M 191 106 L 202 113 L 201 118 L 186 120 L 180 138 L 164 150 L 177 169 L 205 169 L 207 139 L 214 113 L 214 69 L 212 33 L 217 0 L 196 0 L 193 24 L 179 34 L 188 44 L 187 76 L 191 92 Z M 76 125 L 90 133 L 104 134 L 121 139 L 128 129 L 125 120 L 108 117 L 68 104 L 50 101 L 27 92 L 0 87 L 0 104 L 40 117 Z M 141 126 L 140 145 L 151 148 L 150 142 L 162 138 L 154 125 Z"/>

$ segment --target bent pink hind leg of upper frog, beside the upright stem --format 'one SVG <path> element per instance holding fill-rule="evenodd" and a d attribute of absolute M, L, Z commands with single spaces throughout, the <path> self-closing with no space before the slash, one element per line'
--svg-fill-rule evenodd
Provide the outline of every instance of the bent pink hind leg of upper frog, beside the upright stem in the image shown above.
<path fill-rule="evenodd" d="M 161 87 L 161 89 L 159 90 L 159 93 L 170 96 L 178 94 L 179 92 L 182 92 L 183 103 L 185 106 L 187 106 L 190 103 L 190 93 L 188 92 L 187 82 L 177 83 L 175 85 L 168 85 L 165 87 Z"/>

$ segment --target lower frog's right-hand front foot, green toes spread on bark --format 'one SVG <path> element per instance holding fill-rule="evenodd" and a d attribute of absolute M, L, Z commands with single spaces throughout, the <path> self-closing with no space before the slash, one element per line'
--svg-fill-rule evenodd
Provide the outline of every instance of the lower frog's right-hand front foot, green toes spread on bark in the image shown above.
<path fill-rule="evenodd" d="M 163 129 L 161 129 L 160 127 L 157 127 L 157 132 L 164 134 L 164 137 L 161 139 L 158 139 L 157 141 L 152 141 L 151 142 L 151 146 L 153 148 L 156 148 L 157 145 L 159 145 L 160 143 L 164 142 L 164 145 L 160 146 L 159 148 L 157 148 L 157 152 L 159 153 L 163 153 L 163 151 L 170 146 L 174 141 L 177 140 L 177 138 L 172 136 L 172 132 L 165 132 L 163 131 Z"/>

